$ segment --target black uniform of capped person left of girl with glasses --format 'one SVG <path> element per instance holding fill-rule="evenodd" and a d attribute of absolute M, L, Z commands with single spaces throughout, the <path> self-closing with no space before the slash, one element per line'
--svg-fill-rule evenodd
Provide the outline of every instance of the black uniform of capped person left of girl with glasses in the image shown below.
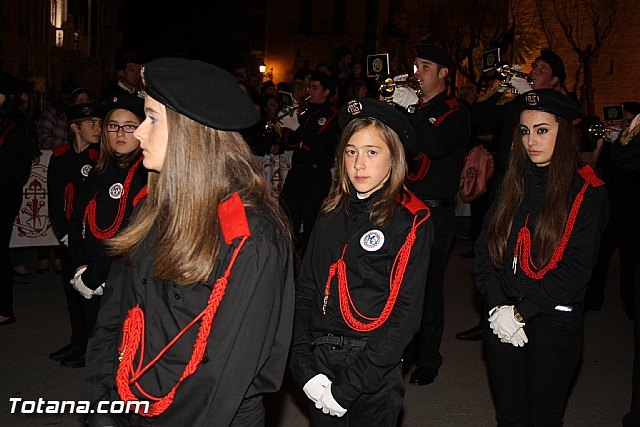
<path fill-rule="evenodd" d="M 47 186 L 49 218 L 58 239 L 69 237 L 73 213 L 84 210 L 82 199 L 87 179 L 100 156 L 97 148 L 98 145 L 94 144 L 78 153 L 71 143 L 66 143 L 53 149 L 47 171 Z M 75 273 L 69 259 L 69 250 L 62 245 L 60 249 L 62 286 L 71 321 L 71 343 L 84 349 L 89 337 L 84 298 L 69 283 Z"/>

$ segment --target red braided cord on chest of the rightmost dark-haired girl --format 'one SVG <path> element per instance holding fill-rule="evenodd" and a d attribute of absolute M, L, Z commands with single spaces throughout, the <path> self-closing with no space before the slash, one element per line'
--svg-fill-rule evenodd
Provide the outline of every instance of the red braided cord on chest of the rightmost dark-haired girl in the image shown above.
<path fill-rule="evenodd" d="M 567 224 L 565 225 L 564 232 L 560 237 L 560 242 L 558 246 L 556 246 L 553 251 L 553 255 L 549 260 L 549 263 L 544 268 L 538 268 L 533 262 L 533 258 L 531 257 L 531 233 L 529 228 L 525 224 L 520 231 L 518 232 L 518 240 L 516 242 L 516 247 L 513 251 L 513 256 L 516 257 L 522 271 L 524 273 L 535 280 L 542 279 L 549 271 L 553 270 L 558 266 L 560 260 L 564 256 L 564 251 L 569 244 L 569 238 L 571 237 L 571 233 L 573 232 L 573 227 L 576 222 L 576 218 L 578 216 L 578 211 L 580 210 L 580 206 L 584 200 L 584 194 L 587 191 L 587 187 L 591 183 L 589 181 L 585 182 L 582 186 L 580 192 L 576 195 L 575 200 L 573 201 L 573 205 L 571 206 L 571 211 L 569 212 L 569 217 L 567 218 Z"/>

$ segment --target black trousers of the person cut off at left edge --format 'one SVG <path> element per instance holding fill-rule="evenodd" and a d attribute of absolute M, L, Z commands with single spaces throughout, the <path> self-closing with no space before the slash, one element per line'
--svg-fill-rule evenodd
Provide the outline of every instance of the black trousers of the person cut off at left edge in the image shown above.
<path fill-rule="evenodd" d="M 9 243 L 13 222 L 22 204 L 22 187 L 4 186 L 0 209 L 0 316 L 13 316 L 13 267 Z"/>

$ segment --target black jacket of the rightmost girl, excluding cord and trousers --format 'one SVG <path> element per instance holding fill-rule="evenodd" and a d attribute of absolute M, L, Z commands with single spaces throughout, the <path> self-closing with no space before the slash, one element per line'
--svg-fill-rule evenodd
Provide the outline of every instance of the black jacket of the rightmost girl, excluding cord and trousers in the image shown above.
<path fill-rule="evenodd" d="M 533 233 L 542 210 L 546 178 L 547 168 L 538 168 L 529 163 L 524 176 L 524 200 L 513 219 L 502 267 L 498 268 L 491 262 L 486 240 L 487 227 L 499 198 L 485 216 L 485 225 L 475 245 L 475 281 L 486 308 L 515 305 L 525 322 L 540 313 L 553 311 L 556 305 L 573 305 L 584 301 L 587 283 L 598 256 L 600 237 L 609 217 L 606 187 L 589 186 L 564 256 L 557 267 L 540 280 L 529 278 L 519 265 L 514 274 L 512 262 L 518 231 L 529 215 L 527 224 Z M 568 203 L 573 204 L 584 182 L 581 176 L 576 177 Z M 533 257 L 535 262 L 535 254 Z"/>

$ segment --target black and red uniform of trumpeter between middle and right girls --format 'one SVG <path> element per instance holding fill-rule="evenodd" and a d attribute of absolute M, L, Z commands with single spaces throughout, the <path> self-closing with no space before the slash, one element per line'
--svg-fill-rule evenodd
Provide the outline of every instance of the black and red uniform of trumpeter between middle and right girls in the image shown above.
<path fill-rule="evenodd" d="M 435 377 L 442 365 L 443 281 L 455 233 L 453 198 L 460 184 L 470 118 L 466 106 L 446 92 L 420 105 L 413 114 L 405 113 L 418 134 L 419 148 L 417 153 L 407 153 L 409 174 L 405 184 L 431 210 L 435 230 L 422 326 L 416 342 L 416 365 Z"/>

